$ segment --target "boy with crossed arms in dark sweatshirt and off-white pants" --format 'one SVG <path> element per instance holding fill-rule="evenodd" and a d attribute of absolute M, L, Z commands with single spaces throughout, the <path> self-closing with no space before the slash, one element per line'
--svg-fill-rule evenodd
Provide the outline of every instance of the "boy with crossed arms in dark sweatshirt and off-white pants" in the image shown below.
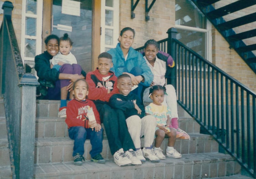
<path fill-rule="evenodd" d="M 124 113 L 128 131 L 136 148 L 136 156 L 145 162 L 145 158 L 151 162 L 160 162 L 152 150 L 155 136 L 156 118 L 151 115 L 145 116 L 145 109 L 140 97 L 131 93 L 132 81 L 128 74 L 122 74 L 117 78 L 117 88 L 120 94 L 113 94 L 109 104 Z M 140 137 L 144 136 L 144 147 L 141 150 Z"/>

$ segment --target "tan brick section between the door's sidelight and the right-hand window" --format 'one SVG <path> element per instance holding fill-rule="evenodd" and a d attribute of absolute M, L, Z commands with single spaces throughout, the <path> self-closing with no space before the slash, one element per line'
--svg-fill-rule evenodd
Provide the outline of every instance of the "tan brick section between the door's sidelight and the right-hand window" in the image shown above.
<path fill-rule="evenodd" d="M 148 2 L 151 3 L 151 1 Z M 175 24 L 175 1 L 173 0 L 156 1 L 149 12 L 150 20 L 148 21 L 145 21 L 145 1 L 139 1 L 134 10 L 134 19 L 131 19 L 130 0 L 120 0 L 119 9 L 119 29 L 124 27 L 135 29 L 136 34 L 132 45 L 134 48 L 143 46 L 149 39 L 158 41 L 167 38 L 167 30 Z"/>

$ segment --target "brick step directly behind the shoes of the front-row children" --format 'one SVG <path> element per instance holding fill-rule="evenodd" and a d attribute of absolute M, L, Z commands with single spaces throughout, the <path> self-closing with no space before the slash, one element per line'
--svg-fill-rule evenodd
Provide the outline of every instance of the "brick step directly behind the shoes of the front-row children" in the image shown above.
<path fill-rule="evenodd" d="M 141 144 L 144 144 L 144 138 L 141 139 Z M 163 152 L 166 152 L 168 139 L 165 139 L 161 145 Z M 218 145 L 209 135 L 191 134 L 191 140 L 177 139 L 175 149 L 182 154 L 188 153 L 209 153 L 217 152 Z M 85 160 L 90 160 L 89 151 L 91 150 L 90 141 L 85 141 Z M 70 162 L 73 151 L 73 140 L 69 137 L 51 137 L 51 138 L 37 138 L 35 140 L 35 163 L 56 163 L 56 162 Z M 102 156 L 105 159 L 112 159 L 108 140 L 103 139 Z"/>

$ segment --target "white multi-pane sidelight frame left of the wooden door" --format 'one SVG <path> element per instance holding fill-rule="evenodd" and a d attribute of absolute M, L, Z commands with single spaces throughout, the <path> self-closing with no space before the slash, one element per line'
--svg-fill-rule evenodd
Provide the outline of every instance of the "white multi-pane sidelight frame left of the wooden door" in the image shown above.
<path fill-rule="evenodd" d="M 26 39 L 36 40 L 35 55 L 42 53 L 42 26 L 43 26 L 43 0 L 37 0 L 37 14 L 28 14 L 26 13 L 26 2 L 22 2 L 22 34 L 21 34 L 21 56 L 23 63 L 25 61 L 34 61 L 32 57 L 25 57 L 25 42 Z M 36 26 L 36 35 L 26 35 L 26 17 L 35 18 Z"/>

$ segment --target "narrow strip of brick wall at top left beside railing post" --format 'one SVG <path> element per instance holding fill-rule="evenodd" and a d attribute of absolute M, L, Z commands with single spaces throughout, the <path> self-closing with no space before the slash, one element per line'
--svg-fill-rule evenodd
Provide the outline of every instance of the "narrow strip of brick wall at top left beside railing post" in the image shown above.
<path fill-rule="evenodd" d="M 21 29 L 22 29 L 22 0 L 8 0 L 13 3 L 12 23 L 16 38 L 18 41 L 19 49 L 21 44 Z M 2 1 L 3 2 L 3 1 Z M 0 14 L 0 24 L 2 24 L 3 14 Z"/>

